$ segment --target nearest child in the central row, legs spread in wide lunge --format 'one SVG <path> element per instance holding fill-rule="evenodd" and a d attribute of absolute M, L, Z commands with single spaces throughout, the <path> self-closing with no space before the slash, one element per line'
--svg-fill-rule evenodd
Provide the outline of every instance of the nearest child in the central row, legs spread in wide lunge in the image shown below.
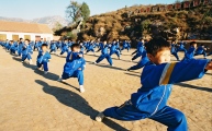
<path fill-rule="evenodd" d="M 107 40 L 103 41 L 103 49 L 101 50 L 101 56 L 96 60 L 94 64 L 101 62 L 103 59 L 107 59 L 110 66 L 113 66 L 113 61 L 111 56 L 108 53 L 109 46 L 107 45 Z"/>

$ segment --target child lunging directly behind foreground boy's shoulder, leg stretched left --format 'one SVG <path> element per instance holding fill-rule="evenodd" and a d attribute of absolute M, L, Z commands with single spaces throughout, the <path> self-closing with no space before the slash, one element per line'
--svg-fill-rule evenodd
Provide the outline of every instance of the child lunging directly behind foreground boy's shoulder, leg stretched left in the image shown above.
<path fill-rule="evenodd" d="M 140 62 L 138 62 L 136 66 L 133 66 L 133 67 L 126 69 L 126 71 L 138 70 L 138 69 L 141 69 L 141 68 L 144 68 L 144 66 L 146 66 L 146 64 L 148 64 L 148 63 L 149 63 L 149 59 L 148 59 L 148 57 L 147 57 L 146 50 L 144 50 L 144 51 L 142 52 L 142 58 L 141 58 Z"/>

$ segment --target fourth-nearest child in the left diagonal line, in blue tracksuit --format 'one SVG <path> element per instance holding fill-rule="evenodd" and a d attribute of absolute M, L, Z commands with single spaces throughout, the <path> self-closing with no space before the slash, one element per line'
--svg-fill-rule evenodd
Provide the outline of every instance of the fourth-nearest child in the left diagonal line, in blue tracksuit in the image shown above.
<path fill-rule="evenodd" d="M 22 49 L 22 62 L 25 61 L 25 59 L 27 58 L 27 60 L 30 61 L 30 64 L 32 64 L 32 57 L 31 55 L 33 53 L 33 49 L 30 46 L 30 40 L 25 39 L 24 45 L 23 45 L 23 49 Z"/>

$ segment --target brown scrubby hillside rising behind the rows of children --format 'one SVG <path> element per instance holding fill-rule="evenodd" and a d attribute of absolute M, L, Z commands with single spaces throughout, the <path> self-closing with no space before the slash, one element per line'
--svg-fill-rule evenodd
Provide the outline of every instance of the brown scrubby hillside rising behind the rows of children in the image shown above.
<path fill-rule="evenodd" d="M 143 5 L 90 16 L 75 39 L 131 39 L 161 35 L 167 39 L 211 39 L 212 5 L 200 5 L 189 10 L 155 13 L 136 13 Z M 72 27 L 63 28 L 70 32 Z M 58 32 L 57 32 L 58 33 Z"/>

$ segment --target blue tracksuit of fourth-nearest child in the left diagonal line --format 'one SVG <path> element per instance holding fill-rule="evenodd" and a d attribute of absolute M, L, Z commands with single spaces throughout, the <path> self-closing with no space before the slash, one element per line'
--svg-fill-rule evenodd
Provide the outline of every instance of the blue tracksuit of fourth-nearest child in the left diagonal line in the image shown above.
<path fill-rule="evenodd" d="M 22 49 L 22 61 L 24 61 L 26 58 L 27 60 L 31 60 L 31 55 L 33 53 L 33 49 L 30 45 L 23 45 Z"/>

